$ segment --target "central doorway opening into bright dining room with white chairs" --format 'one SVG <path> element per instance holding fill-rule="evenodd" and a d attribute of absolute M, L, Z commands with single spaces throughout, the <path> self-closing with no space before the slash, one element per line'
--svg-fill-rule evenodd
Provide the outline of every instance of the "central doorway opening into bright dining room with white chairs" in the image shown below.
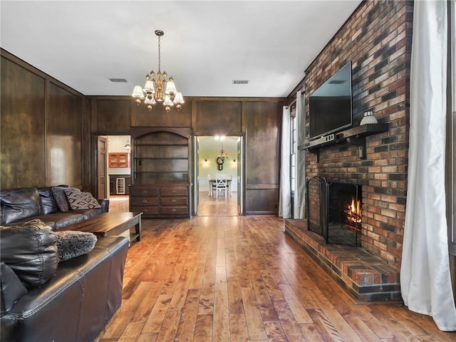
<path fill-rule="evenodd" d="M 243 203 L 243 148 L 241 136 L 194 137 L 195 216 L 239 216 Z M 217 175 L 227 177 L 223 192 L 213 189 Z"/>

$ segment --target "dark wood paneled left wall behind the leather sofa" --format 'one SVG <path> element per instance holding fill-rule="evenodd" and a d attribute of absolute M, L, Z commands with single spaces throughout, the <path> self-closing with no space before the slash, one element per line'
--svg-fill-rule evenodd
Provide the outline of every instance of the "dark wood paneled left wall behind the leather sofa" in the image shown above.
<path fill-rule="evenodd" d="M 1 50 L 1 188 L 83 187 L 83 95 Z"/>

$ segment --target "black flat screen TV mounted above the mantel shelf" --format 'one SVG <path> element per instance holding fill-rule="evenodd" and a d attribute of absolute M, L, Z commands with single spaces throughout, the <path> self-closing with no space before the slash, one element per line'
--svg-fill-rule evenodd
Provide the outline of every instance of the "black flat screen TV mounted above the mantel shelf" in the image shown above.
<path fill-rule="evenodd" d="M 352 124 L 351 62 L 309 97 L 309 140 L 335 133 Z"/>

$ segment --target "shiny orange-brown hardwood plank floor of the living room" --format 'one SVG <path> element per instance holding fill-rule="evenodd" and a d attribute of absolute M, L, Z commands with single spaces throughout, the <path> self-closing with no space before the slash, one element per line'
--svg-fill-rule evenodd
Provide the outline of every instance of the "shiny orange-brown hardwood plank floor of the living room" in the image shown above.
<path fill-rule="evenodd" d="M 279 217 L 143 219 L 114 341 L 456 341 L 401 304 L 356 304 Z"/>

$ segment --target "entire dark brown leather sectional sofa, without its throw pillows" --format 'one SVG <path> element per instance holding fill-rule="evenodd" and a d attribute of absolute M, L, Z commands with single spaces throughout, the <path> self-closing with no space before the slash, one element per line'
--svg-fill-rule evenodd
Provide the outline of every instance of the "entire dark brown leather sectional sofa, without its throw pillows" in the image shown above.
<path fill-rule="evenodd" d="M 61 210 L 52 190 L 0 192 L 2 342 L 93 341 L 122 301 L 125 237 L 98 237 L 90 252 L 59 262 L 58 231 L 108 212 L 109 201 Z M 48 227 L 33 227 L 33 219 Z"/>

